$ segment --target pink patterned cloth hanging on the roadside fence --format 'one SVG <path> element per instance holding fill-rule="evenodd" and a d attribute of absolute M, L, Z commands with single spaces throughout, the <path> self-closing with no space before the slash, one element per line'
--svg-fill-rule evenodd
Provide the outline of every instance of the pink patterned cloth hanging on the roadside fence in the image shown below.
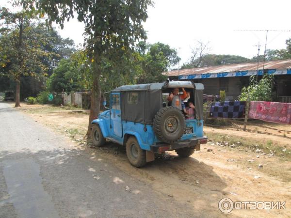
<path fill-rule="evenodd" d="M 248 117 L 279 124 L 291 124 L 291 103 L 251 101 Z"/>

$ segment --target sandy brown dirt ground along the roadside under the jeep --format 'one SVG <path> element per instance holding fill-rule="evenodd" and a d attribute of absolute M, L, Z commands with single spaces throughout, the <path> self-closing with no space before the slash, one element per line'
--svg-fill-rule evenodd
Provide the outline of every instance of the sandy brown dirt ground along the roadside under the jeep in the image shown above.
<path fill-rule="evenodd" d="M 88 111 L 73 113 L 70 109 L 24 103 L 17 110 L 31 116 L 35 122 L 47 125 L 59 134 L 67 135 L 76 146 L 88 149 L 83 140 L 88 125 Z M 290 125 L 270 126 L 285 130 L 285 136 L 291 137 Z M 265 131 L 264 127 L 251 123 L 247 127 Z M 274 136 L 243 132 L 229 127 L 205 127 L 204 132 L 209 136 L 210 142 L 201 145 L 201 150 L 190 158 L 179 158 L 172 151 L 157 157 L 154 162 L 141 169 L 129 164 L 125 149 L 117 144 L 107 143 L 95 150 L 104 159 L 112 161 L 121 171 L 151 184 L 163 198 L 169 201 L 173 198 L 190 205 L 193 211 L 203 210 L 205 217 L 291 216 L 291 158 L 285 155 L 286 152 L 290 153 L 290 138 L 284 137 L 282 132 L 282 136 Z M 271 133 L 278 134 L 277 130 Z M 231 139 L 231 143 L 234 143 L 234 140 L 237 140 L 237 143 L 235 146 L 225 146 L 225 143 L 221 143 L 221 137 L 223 141 Z M 258 149 L 263 148 L 263 152 L 258 152 L 256 146 Z M 266 149 L 270 149 L 268 146 L 282 151 L 274 155 L 272 151 L 266 152 Z M 94 154 L 91 158 L 94 159 Z M 262 168 L 259 168 L 259 164 Z M 223 214 L 218 209 L 218 202 L 223 198 L 229 198 L 233 202 L 286 202 L 286 209 L 234 209 L 229 214 Z"/>

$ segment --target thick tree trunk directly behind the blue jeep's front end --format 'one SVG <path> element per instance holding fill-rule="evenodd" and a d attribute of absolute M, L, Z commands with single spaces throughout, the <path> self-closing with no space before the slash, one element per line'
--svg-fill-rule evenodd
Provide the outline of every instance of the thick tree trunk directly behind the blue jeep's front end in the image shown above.
<path fill-rule="evenodd" d="M 101 87 L 99 84 L 99 78 L 101 75 L 101 69 L 100 69 L 100 63 L 97 62 L 97 58 L 94 59 L 93 73 L 94 73 L 93 87 L 91 90 L 91 108 L 90 108 L 87 136 L 90 136 L 91 134 L 91 122 L 98 117 L 98 114 L 100 112 Z"/>

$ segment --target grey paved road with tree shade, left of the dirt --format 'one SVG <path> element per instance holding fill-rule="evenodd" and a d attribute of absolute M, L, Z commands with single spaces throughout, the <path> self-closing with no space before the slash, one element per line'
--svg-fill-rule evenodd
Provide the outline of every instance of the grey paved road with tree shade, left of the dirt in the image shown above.
<path fill-rule="evenodd" d="M 0 218 L 191 217 L 92 151 L 0 102 Z"/>

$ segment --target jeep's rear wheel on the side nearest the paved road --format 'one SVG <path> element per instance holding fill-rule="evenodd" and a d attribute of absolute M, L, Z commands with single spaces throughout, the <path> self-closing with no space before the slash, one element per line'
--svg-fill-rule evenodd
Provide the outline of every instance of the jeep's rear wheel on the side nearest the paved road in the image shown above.
<path fill-rule="evenodd" d="M 134 167 L 146 165 L 146 151 L 141 149 L 135 137 L 131 136 L 126 142 L 126 154 L 129 163 Z"/>

